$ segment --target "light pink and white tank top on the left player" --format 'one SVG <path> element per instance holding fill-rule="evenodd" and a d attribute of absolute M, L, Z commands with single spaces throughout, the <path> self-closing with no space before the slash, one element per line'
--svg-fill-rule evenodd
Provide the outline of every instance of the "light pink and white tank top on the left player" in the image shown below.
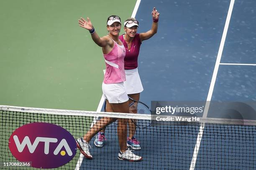
<path fill-rule="evenodd" d="M 112 84 L 125 81 L 125 47 L 123 46 L 123 44 L 118 45 L 118 43 L 115 41 L 114 43 L 115 45 L 113 49 L 108 54 L 103 54 L 106 62 L 106 72 L 103 80 L 105 84 Z"/>

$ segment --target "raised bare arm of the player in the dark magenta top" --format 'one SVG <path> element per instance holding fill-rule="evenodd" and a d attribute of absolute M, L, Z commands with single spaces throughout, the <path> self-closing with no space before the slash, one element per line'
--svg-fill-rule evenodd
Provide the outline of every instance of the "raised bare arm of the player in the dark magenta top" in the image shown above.
<path fill-rule="evenodd" d="M 160 13 L 157 12 L 155 7 L 153 8 L 153 11 L 151 14 L 152 14 L 153 20 L 158 21 Z M 144 40 L 148 40 L 154 34 L 156 34 L 157 28 L 158 28 L 158 22 L 153 21 L 151 30 L 148 30 L 147 32 L 140 33 L 141 42 Z"/>

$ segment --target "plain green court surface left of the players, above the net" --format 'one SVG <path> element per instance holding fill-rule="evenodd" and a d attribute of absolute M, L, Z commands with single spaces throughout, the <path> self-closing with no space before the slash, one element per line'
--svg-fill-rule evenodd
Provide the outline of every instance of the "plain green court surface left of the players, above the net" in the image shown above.
<path fill-rule="evenodd" d="M 102 51 L 78 25 L 90 17 L 131 17 L 136 0 L 3 0 L 0 2 L 0 105 L 96 110 L 102 95 Z M 123 30 L 120 32 L 123 33 Z"/>

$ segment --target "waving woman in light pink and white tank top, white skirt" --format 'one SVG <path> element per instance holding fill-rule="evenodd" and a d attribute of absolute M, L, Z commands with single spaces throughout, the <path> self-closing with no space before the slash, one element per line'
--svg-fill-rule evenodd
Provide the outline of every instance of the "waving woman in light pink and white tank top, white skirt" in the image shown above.
<path fill-rule="evenodd" d="M 108 107 L 113 112 L 128 113 L 128 95 L 125 91 L 123 82 L 125 81 L 124 57 L 125 47 L 119 40 L 119 32 L 121 29 L 120 17 L 111 15 L 107 20 L 108 35 L 99 37 L 92 26 L 89 18 L 78 20 L 79 26 L 89 30 L 92 40 L 102 47 L 103 56 L 106 62 L 106 72 L 102 83 L 103 95 L 106 98 Z M 107 125 L 114 122 L 116 119 L 103 117 L 87 131 L 83 138 L 77 139 L 77 148 L 88 159 L 92 159 L 90 154 L 90 140 L 100 130 L 105 129 Z M 118 140 L 120 152 L 118 153 L 119 160 L 139 161 L 142 158 L 135 155 L 126 144 L 127 138 L 127 119 L 118 119 Z"/>

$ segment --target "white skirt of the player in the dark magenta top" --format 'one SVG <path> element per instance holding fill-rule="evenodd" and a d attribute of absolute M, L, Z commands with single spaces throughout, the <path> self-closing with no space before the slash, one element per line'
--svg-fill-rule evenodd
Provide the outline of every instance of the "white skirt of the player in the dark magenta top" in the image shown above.
<path fill-rule="evenodd" d="M 125 70 L 126 81 L 123 82 L 125 91 L 128 95 L 136 94 L 143 91 L 140 75 L 138 74 L 138 68 L 132 70 Z"/>

